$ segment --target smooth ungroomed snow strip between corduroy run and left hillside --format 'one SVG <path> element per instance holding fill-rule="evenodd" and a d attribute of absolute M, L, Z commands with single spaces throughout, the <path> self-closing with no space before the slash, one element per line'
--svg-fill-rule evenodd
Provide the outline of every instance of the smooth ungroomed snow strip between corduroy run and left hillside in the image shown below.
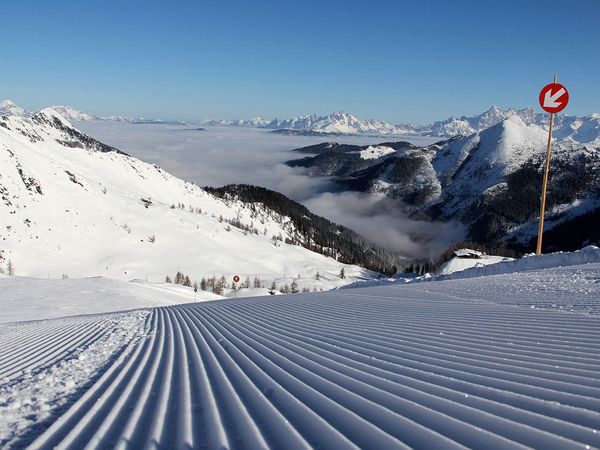
<path fill-rule="evenodd" d="M 370 279 L 361 278 L 360 281 Z M 339 274 L 321 272 L 319 279 L 280 277 L 273 281 L 278 289 L 284 285 L 298 285 L 298 290 L 329 291 L 348 283 L 357 282 L 357 277 L 341 279 Z M 129 282 L 92 277 L 83 279 L 42 279 L 9 277 L 0 274 L 0 324 L 29 320 L 46 320 L 81 314 L 99 314 L 129 311 L 138 308 L 170 306 L 181 303 L 197 303 L 226 298 L 258 297 L 269 294 L 271 281 L 265 287 L 226 288 L 223 295 L 211 291 L 173 283 L 152 283 L 145 280 Z M 250 279 L 252 286 L 253 280 Z M 282 295 L 279 290 L 274 295 Z"/>

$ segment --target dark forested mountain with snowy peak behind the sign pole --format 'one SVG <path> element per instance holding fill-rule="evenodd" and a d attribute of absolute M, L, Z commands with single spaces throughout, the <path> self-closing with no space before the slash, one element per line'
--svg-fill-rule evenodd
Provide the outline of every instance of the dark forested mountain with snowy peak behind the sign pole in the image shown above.
<path fill-rule="evenodd" d="M 414 217 L 457 220 L 476 242 L 530 251 L 537 234 L 547 136 L 543 127 L 514 114 L 468 136 L 426 147 L 329 142 L 297 149 L 304 156 L 287 164 L 333 179 L 345 190 L 397 200 Z M 551 163 L 546 229 L 555 231 L 549 233 L 547 248 L 597 242 L 600 146 L 556 139 Z"/>

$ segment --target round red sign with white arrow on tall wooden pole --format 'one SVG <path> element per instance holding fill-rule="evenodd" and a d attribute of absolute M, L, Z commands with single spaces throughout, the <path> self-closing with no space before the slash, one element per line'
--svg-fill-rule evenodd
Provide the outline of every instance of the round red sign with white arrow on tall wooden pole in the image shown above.
<path fill-rule="evenodd" d="M 535 253 L 542 253 L 542 235 L 544 234 L 544 214 L 546 212 L 546 191 L 548 190 L 548 174 L 550 172 L 550 146 L 552 145 L 552 127 L 554 125 L 554 114 L 561 112 L 569 103 L 569 91 L 562 84 L 554 82 L 547 84 L 540 91 L 540 106 L 550 113 L 550 127 L 548 128 L 548 148 L 546 150 L 546 167 L 544 169 L 544 183 L 542 184 L 542 197 L 540 204 L 540 227 L 538 229 L 538 243 Z"/>

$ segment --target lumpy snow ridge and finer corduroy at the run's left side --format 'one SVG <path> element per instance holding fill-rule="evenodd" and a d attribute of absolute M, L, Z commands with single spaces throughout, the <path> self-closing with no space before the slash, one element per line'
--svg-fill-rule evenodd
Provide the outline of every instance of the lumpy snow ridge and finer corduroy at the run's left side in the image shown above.
<path fill-rule="evenodd" d="M 19 448 L 56 420 L 144 336 L 149 311 L 0 325 L 0 447 Z"/>

